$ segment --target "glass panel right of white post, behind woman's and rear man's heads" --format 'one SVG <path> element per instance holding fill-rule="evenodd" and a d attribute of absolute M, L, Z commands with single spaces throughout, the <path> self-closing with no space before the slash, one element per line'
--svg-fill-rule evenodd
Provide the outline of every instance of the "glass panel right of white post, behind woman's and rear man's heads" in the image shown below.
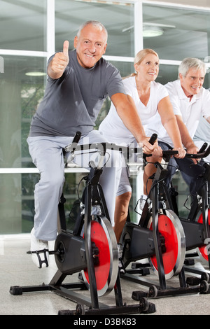
<path fill-rule="evenodd" d="M 167 83 L 178 76 L 178 67 L 185 57 L 197 57 L 210 66 L 210 11 L 197 8 L 176 8 L 143 4 L 144 48 L 153 48 L 162 63 L 158 81 Z M 153 35 L 153 37 L 150 36 Z M 157 36 L 154 36 L 155 33 Z M 210 87 L 209 70 L 204 87 Z"/>

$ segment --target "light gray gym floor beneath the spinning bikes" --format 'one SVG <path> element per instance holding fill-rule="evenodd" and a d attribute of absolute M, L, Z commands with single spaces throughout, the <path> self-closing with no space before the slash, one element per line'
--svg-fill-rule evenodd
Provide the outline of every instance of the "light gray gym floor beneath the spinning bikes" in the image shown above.
<path fill-rule="evenodd" d="M 11 295 L 10 286 L 34 286 L 49 283 L 57 272 L 54 256 L 50 255 L 48 268 L 38 269 L 27 255 L 29 250 L 29 236 L 0 236 L 0 315 L 57 315 L 58 311 L 64 309 L 76 309 L 76 303 L 52 292 L 23 293 L 22 295 Z M 53 245 L 52 245 L 53 249 Z M 51 250 L 52 250 L 51 249 Z M 200 259 L 195 259 L 198 269 L 204 269 L 205 265 Z M 207 268 L 207 267 L 206 267 Z M 190 274 L 192 276 L 192 274 Z M 189 276 L 190 276 L 189 275 Z M 195 274 L 193 274 L 195 276 Z M 188 273 L 186 273 L 188 276 Z M 151 273 L 149 276 L 155 284 L 158 283 L 157 276 Z M 68 276 L 64 282 L 77 282 L 78 273 Z M 144 290 L 148 287 L 139 283 L 120 279 L 123 293 L 123 302 L 127 305 L 137 304 L 132 300 L 132 292 Z M 174 276 L 167 280 L 167 285 L 179 287 L 179 277 Z M 85 291 L 87 295 L 88 291 Z M 84 293 L 84 295 L 85 295 Z M 115 305 L 113 291 L 109 295 L 99 298 L 99 302 L 109 306 Z M 173 297 L 158 297 L 149 299 L 155 304 L 155 313 L 139 314 L 139 316 L 153 315 L 210 315 L 210 294 L 186 294 Z"/>

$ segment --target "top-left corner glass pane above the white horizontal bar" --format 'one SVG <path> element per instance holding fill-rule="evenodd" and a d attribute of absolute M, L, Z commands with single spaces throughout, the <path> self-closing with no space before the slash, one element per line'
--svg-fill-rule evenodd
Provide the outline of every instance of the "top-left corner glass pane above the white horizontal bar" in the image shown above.
<path fill-rule="evenodd" d="M 47 0 L 0 1 L 0 48 L 46 51 Z"/>

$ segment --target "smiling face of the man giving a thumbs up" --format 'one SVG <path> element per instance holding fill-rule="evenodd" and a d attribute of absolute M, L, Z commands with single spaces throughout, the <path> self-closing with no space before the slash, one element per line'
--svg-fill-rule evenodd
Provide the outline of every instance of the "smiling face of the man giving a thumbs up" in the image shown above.
<path fill-rule="evenodd" d="M 80 36 L 74 38 L 73 45 L 79 64 L 90 69 L 106 52 L 106 32 L 94 25 L 87 25 L 80 31 Z"/>

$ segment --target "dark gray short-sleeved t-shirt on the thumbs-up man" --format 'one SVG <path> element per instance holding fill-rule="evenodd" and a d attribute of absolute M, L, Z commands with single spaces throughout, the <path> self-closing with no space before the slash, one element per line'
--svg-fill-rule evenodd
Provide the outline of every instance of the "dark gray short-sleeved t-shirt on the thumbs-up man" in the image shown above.
<path fill-rule="evenodd" d="M 77 131 L 87 134 L 94 127 L 104 99 L 118 92 L 126 94 L 115 66 L 101 58 L 92 68 L 85 69 L 78 64 L 76 50 L 72 50 L 62 77 L 48 77 L 29 136 L 71 137 Z"/>

